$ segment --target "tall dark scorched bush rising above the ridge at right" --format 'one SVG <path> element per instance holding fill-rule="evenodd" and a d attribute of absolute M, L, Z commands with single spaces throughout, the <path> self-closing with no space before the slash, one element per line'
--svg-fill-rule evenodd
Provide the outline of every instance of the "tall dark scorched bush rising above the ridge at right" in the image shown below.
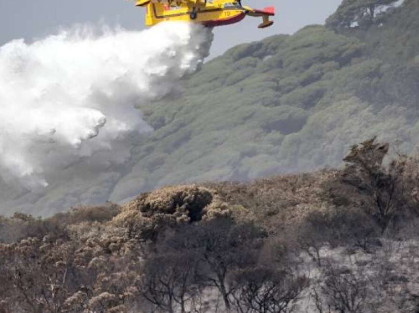
<path fill-rule="evenodd" d="M 338 206 L 360 208 L 381 229 L 397 224 L 417 212 L 414 160 L 398 156 L 384 163 L 389 145 L 376 138 L 351 147 L 345 168 L 328 186 L 328 196 Z"/>

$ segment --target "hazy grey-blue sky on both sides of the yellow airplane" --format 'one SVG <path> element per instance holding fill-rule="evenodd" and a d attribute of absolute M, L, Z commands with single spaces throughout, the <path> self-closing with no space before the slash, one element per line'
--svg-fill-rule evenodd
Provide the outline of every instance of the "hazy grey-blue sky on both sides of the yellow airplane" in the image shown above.
<path fill-rule="evenodd" d="M 292 33 L 308 24 L 323 23 L 342 0 L 243 0 L 256 8 L 275 5 L 277 16 L 270 29 L 259 30 L 258 19 L 215 30 L 212 56 L 243 42 L 276 33 Z M 120 25 L 143 29 L 143 9 L 127 0 L 0 0 L 0 46 L 9 40 L 44 37 L 74 24 Z"/>

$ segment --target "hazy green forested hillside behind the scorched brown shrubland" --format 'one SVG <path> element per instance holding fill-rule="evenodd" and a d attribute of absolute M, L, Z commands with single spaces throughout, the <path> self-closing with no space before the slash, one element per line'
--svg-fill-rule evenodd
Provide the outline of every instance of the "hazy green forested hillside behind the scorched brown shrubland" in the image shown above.
<path fill-rule="evenodd" d="M 418 1 L 406 0 L 379 23 L 336 28 L 337 14 L 327 27 L 235 47 L 179 81 L 175 95 L 140 104 L 155 131 L 129 162 L 37 193 L 3 187 L 1 212 L 49 215 L 162 185 L 335 166 L 351 144 L 374 135 L 412 151 L 418 16 Z"/>

